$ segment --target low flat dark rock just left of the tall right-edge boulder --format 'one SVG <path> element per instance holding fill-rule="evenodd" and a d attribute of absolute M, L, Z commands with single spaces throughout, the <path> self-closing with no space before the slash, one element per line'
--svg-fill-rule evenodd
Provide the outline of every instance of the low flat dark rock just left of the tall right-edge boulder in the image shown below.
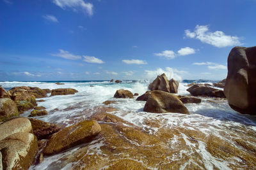
<path fill-rule="evenodd" d="M 205 96 L 205 97 L 223 97 L 225 98 L 225 95 L 223 93 L 223 90 L 214 89 L 212 87 L 206 87 L 205 85 L 196 84 L 192 87 L 189 87 L 187 91 L 192 96 Z"/>

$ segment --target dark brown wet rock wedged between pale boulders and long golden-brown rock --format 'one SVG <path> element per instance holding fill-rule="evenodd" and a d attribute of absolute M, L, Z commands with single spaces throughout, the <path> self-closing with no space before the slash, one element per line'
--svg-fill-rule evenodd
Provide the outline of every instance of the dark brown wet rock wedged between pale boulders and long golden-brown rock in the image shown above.
<path fill-rule="evenodd" d="M 29 118 L 31 122 L 33 133 L 37 139 L 48 139 L 49 136 L 61 130 L 61 127 L 55 124 L 47 123 L 35 118 Z"/>

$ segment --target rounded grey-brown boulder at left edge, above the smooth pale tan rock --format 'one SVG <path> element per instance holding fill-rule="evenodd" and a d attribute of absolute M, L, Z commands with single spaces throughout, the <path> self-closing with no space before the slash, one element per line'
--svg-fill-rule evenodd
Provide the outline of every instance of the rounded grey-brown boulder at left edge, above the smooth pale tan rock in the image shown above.
<path fill-rule="evenodd" d="M 18 116 L 16 103 L 9 98 L 0 98 L 0 122 L 10 117 Z"/>

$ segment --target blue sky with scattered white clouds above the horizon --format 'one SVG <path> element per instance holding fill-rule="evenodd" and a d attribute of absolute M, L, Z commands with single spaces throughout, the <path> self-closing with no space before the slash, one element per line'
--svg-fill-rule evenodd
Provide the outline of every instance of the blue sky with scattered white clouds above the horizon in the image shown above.
<path fill-rule="evenodd" d="M 255 0 L 0 0 L 0 81 L 222 80 Z"/>

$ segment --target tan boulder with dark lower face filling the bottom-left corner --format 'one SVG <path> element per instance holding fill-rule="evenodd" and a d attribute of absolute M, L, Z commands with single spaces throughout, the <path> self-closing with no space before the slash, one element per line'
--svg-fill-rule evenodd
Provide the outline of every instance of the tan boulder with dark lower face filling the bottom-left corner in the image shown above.
<path fill-rule="evenodd" d="M 3 169 L 28 169 L 38 152 L 36 136 L 17 132 L 0 141 Z"/>

